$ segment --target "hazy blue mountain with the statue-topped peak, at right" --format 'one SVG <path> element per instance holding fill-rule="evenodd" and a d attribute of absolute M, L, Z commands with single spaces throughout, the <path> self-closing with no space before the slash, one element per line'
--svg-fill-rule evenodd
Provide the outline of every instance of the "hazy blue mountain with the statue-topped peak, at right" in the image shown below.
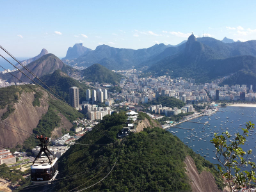
<path fill-rule="evenodd" d="M 255 74 L 255 56 L 255 40 L 225 44 L 214 38 L 191 35 L 184 49 L 153 63 L 146 72 L 156 76 L 195 78 L 199 83 L 205 83 L 230 74 L 236 76 L 239 70 L 250 72 L 250 76 Z M 254 86 L 255 81 L 250 84 Z"/>

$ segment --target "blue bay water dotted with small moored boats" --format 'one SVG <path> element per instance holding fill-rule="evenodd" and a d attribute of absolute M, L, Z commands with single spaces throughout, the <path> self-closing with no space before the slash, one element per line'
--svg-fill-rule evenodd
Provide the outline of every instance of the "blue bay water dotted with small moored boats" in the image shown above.
<path fill-rule="evenodd" d="M 214 133 L 222 134 L 228 131 L 234 136 L 236 132 L 242 133 L 241 128 L 245 128 L 246 122 L 255 122 L 256 108 L 232 107 L 220 108 L 215 113 L 206 116 L 197 116 L 193 120 L 184 120 L 179 124 L 168 127 L 168 131 L 176 135 L 188 147 L 192 148 L 196 154 L 205 157 L 211 163 L 218 163 L 215 155 L 215 147 L 210 140 Z M 189 127 L 189 128 L 188 128 Z M 182 129 L 185 129 L 182 131 Z M 248 140 L 242 146 L 243 150 L 253 150 L 249 156 L 251 161 L 256 162 L 256 131 L 249 133 Z"/>

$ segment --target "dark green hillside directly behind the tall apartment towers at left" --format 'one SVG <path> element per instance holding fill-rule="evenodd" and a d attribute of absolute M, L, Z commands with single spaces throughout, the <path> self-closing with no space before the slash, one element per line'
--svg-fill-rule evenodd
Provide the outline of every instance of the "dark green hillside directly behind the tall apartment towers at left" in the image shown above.
<path fill-rule="evenodd" d="M 79 88 L 80 102 L 86 100 L 86 90 L 89 88 L 86 84 L 79 83 L 79 81 L 72 79 L 61 70 L 56 70 L 54 73 L 40 78 L 47 86 L 54 92 L 58 93 L 61 98 L 69 103 L 69 88 L 76 86 Z"/>

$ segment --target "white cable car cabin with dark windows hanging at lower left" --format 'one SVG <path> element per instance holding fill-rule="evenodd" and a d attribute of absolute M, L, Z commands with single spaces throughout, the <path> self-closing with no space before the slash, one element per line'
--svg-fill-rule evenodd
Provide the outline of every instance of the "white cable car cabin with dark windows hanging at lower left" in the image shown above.
<path fill-rule="evenodd" d="M 51 159 L 51 162 L 49 161 Z M 58 174 L 58 158 L 49 156 L 38 158 L 31 165 L 31 182 L 34 184 L 50 183 Z"/>

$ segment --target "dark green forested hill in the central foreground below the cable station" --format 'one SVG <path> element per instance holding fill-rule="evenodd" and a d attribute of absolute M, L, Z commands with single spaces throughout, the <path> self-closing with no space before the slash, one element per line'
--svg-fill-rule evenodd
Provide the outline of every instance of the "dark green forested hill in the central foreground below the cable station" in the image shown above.
<path fill-rule="evenodd" d="M 58 182 L 54 190 L 70 191 L 91 186 L 104 178 L 116 161 L 108 177 L 90 191 L 191 191 L 184 167 L 188 155 L 193 157 L 200 172 L 207 169 L 215 173 L 221 186 L 214 165 L 195 154 L 168 131 L 157 127 L 144 129 L 130 133 L 122 141 L 116 140 L 116 134 L 125 126 L 126 119 L 122 112 L 104 116 L 104 120 L 92 131 L 77 140 L 77 143 L 83 144 L 108 145 L 72 145 L 60 157 L 59 177 L 77 176 Z"/>

